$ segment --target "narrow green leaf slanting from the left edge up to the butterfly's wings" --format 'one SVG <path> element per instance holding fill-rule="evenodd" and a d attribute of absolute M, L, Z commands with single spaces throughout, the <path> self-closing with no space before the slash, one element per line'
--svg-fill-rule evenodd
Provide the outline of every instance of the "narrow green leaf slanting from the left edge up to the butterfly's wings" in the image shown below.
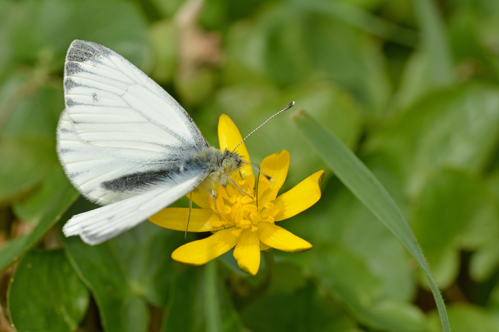
<path fill-rule="evenodd" d="M 58 189 L 51 191 L 52 196 L 45 201 L 46 206 L 43 215 L 41 217 L 37 216 L 39 221 L 33 231 L 6 242 L 0 248 L 0 270 L 16 261 L 19 255 L 36 244 L 46 231 L 61 219 L 64 212 L 78 198 L 78 192 L 66 179 L 66 175 L 60 167 L 53 170 L 47 181 L 53 182 L 50 186 Z"/>

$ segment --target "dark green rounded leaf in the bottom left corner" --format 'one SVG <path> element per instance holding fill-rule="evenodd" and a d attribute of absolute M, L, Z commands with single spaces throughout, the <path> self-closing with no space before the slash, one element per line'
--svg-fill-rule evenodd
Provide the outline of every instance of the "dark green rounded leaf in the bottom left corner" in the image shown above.
<path fill-rule="evenodd" d="M 63 250 L 26 253 L 8 290 L 8 311 L 18 332 L 75 331 L 88 301 L 88 290 Z"/>

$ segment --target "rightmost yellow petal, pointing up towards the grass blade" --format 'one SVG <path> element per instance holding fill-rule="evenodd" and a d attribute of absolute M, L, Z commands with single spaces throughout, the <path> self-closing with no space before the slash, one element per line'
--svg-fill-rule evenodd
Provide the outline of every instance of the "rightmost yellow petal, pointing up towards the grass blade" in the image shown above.
<path fill-rule="evenodd" d="M 274 220 L 291 218 L 314 205 L 320 198 L 322 180 L 324 180 L 324 171 L 318 171 L 277 197 L 272 202 L 274 209 L 279 209 Z"/>

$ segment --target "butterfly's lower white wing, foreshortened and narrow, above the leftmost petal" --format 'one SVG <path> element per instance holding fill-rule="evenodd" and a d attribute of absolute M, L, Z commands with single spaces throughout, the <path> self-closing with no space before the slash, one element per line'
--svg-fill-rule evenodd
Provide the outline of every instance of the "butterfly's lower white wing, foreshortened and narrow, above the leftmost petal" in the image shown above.
<path fill-rule="evenodd" d="M 104 242 L 128 230 L 194 190 L 206 176 L 169 188 L 156 189 L 111 205 L 73 216 L 62 227 L 64 235 L 80 235 L 88 244 Z"/>

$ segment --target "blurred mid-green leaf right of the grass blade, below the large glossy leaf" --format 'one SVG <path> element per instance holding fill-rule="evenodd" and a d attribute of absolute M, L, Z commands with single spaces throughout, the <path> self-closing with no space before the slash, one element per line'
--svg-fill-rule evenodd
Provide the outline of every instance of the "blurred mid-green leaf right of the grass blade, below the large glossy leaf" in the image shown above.
<path fill-rule="evenodd" d="M 450 286 L 457 277 L 463 238 L 470 233 L 486 204 L 483 184 L 462 172 L 444 171 L 425 186 L 411 225 L 442 288 Z M 497 217 L 491 222 L 497 223 Z"/>

